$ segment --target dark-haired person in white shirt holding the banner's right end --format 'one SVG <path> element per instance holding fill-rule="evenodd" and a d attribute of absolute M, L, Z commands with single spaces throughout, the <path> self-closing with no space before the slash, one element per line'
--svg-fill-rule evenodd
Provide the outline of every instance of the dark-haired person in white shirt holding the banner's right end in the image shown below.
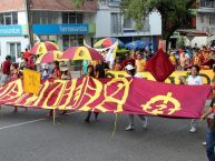
<path fill-rule="evenodd" d="M 184 84 L 189 84 L 189 85 L 201 85 L 203 84 L 203 78 L 198 76 L 201 68 L 198 66 L 193 66 L 192 67 L 192 74 L 188 77 L 187 81 L 180 77 L 180 80 L 183 81 Z M 189 132 L 194 133 L 196 132 L 196 125 L 197 125 L 197 120 L 193 119 L 190 122 L 190 130 Z"/>

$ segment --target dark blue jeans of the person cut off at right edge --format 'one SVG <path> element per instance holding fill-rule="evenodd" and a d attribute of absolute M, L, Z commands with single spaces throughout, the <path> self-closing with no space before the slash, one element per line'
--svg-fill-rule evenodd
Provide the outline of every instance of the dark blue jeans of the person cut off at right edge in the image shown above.
<path fill-rule="evenodd" d="M 215 161 L 214 145 L 215 145 L 215 133 L 212 130 L 208 130 L 206 135 L 206 152 L 209 161 Z"/>

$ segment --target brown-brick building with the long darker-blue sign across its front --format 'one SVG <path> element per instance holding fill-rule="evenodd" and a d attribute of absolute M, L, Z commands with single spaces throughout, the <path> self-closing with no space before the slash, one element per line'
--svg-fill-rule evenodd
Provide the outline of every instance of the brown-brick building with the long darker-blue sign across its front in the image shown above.
<path fill-rule="evenodd" d="M 40 40 L 50 40 L 61 50 L 91 41 L 96 32 L 97 1 L 87 0 L 80 8 L 71 0 L 32 0 L 32 31 Z"/>

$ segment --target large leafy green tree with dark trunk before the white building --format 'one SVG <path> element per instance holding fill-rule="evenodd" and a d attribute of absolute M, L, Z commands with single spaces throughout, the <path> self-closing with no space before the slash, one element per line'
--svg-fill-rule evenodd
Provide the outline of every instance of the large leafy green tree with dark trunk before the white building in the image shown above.
<path fill-rule="evenodd" d="M 190 20 L 190 8 L 196 0 L 121 0 L 121 9 L 127 18 L 141 29 L 144 19 L 153 10 L 162 16 L 162 36 L 169 42 L 170 36 Z"/>

